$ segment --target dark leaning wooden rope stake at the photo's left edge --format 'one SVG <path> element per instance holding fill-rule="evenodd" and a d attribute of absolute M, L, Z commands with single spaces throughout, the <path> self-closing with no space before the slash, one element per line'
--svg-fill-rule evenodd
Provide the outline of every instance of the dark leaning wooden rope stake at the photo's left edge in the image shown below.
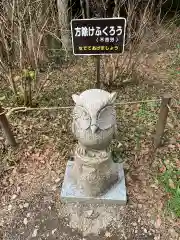
<path fill-rule="evenodd" d="M 5 113 L 3 113 L 3 109 L 1 107 L 1 105 L 0 105 L 0 126 L 2 127 L 2 129 L 5 133 L 5 136 L 8 140 L 8 143 L 12 147 L 16 147 L 17 146 L 16 140 L 13 136 L 13 133 L 11 131 L 11 128 L 10 128 L 10 125 L 9 125 L 8 120 L 6 118 L 6 115 L 5 115 Z"/>

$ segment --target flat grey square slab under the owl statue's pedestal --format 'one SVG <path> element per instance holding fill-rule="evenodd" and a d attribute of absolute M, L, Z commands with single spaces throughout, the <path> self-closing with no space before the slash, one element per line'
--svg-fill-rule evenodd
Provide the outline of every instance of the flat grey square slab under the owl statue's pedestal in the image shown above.
<path fill-rule="evenodd" d="M 74 183 L 70 177 L 74 162 L 68 161 L 64 182 L 61 190 L 61 200 L 63 202 L 84 202 L 84 203 L 103 203 L 125 205 L 127 202 L 126 186 L 123 165 L 117 164 L 119 168 L 119 180 L 104 194 L 98 197 L 86 196 L 82 189 Z"/>

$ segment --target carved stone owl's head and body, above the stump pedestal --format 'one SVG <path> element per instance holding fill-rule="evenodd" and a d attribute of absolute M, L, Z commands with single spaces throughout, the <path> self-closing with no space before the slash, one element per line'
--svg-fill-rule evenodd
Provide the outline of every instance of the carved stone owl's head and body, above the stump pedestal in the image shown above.
<path fill-rule="evenodd" d="M 90 89 L 73 95 L 72 132 L 79 141 L 82 152 L 86 149 L 106 149 L 116 133 L 116 93 Z"/>

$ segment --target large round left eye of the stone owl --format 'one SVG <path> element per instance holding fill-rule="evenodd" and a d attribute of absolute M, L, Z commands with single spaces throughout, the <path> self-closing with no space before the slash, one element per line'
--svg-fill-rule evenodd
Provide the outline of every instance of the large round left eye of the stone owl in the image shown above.
<path fill-rule="evenodd" d="M 77 106 L 74 108 L 73 117 L 78 128 L 88 129 L 91 124 L 91 117 L 83 107 Z"/>

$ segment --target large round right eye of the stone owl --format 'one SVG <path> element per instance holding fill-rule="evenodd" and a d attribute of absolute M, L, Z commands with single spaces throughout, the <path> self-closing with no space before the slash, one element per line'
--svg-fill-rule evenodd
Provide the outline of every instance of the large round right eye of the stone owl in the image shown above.
<path fill-rule="evenodd" d="M 116 111 L 113 106 L 104 107 L 98 115 L 98 126 L 105 130 L 116 124 Z"/>

